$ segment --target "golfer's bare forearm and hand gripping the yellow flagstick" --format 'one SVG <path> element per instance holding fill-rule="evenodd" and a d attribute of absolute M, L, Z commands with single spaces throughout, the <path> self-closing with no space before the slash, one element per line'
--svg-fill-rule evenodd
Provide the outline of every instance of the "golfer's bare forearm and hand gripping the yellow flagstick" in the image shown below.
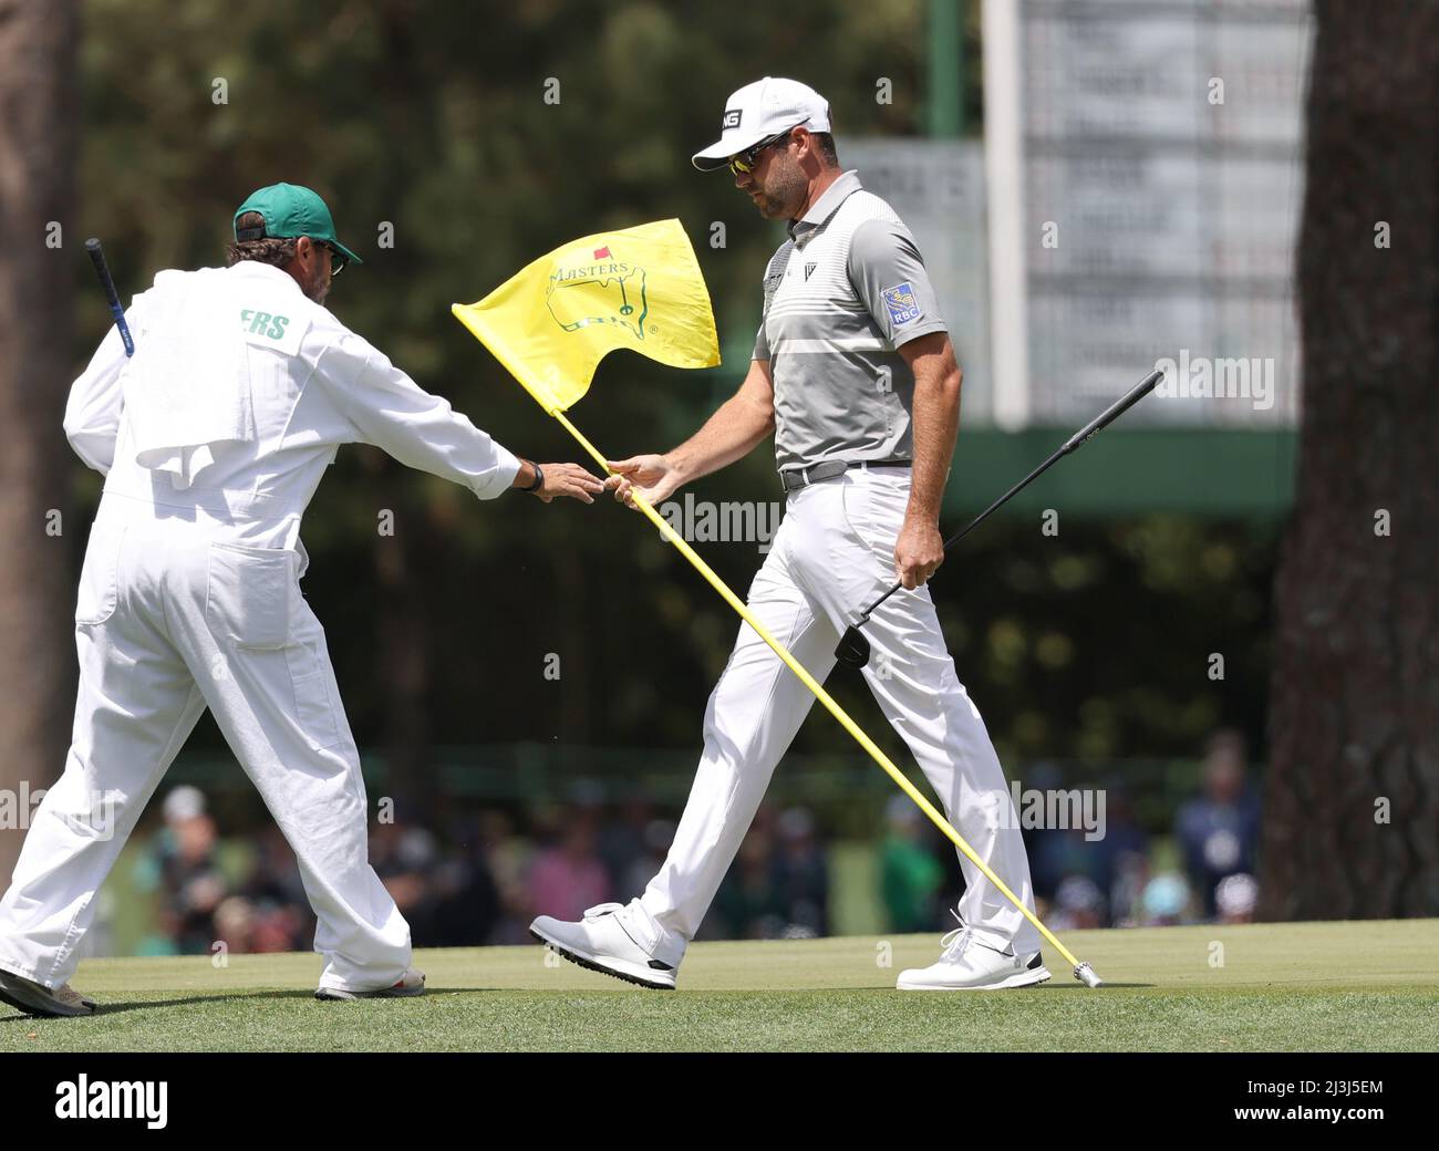
<path fill-rule="evenodd" d="M 606 481 L 622 504 L 635 506 L 630 492 L 637 491 L 652 505 L 662 504 L 685 483 L 699 479 L 747 456 L 774 432 L 774 377 L 768 360 L 751 360 L 750 371 L 704 427 L 679 447 L 662 456 L 645 455 L 609 460 L 617 475 Z"/>

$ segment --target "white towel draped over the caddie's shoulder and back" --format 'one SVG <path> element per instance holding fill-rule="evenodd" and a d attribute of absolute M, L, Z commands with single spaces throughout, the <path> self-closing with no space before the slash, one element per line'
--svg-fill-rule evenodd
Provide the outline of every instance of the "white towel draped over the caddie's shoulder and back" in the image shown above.
<path fill-rule="evenodd" d="M 177 489 L 255 440 L 240 302 L 224 269 L 155 276 L 124 391 L 135 462 L 168 473 Z"/>

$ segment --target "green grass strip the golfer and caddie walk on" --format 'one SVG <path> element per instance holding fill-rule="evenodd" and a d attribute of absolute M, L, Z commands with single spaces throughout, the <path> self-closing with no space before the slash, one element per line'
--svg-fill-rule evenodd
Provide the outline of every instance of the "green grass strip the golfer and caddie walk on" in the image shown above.
<path fill-rule="evenodd" d="M 1439 919 L 1079 931 L 1104 977 L 987 994 L 894 990 L 937 937 L 695 944 L 646 991 L 538 945 L 416 952 L 429 993 L 319 1003 L 319 957 L 88 960 L 88 1019 L 0 1004 L 0 1052 L 40 1050 L 1439 1050 Z M 888 964 L 888 965 L 885 965 Z"/>

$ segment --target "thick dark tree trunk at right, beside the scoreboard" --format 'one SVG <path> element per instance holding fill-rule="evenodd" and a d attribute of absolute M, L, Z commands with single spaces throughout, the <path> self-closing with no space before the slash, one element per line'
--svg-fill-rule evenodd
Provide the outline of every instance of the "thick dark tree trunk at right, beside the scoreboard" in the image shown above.
<path fill-rule="evenodd" d="M 1315 17 L 1261 914 L 1436 915 L 1439 6 Z"/>

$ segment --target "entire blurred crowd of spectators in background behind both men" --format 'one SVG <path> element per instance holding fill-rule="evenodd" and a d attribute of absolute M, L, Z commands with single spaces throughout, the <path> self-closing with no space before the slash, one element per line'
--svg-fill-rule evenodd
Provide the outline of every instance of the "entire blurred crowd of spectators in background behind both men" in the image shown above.
<path fill-rule="evenodd" d="M 1038 768 L 1026 787 L 1058 781 Z M 1055 931 L 1246 922 L 1258 901 L 1259 806 L 1245 745 L 1216 732 L 1199 794 L 1167 836 L 1135 822 L 1128 788 L 1105 788 L 1102 837 L 1084 827 L 1025 829 L 1040 918 Z M 134 881 L 158 908 L 142 954 L 308 950 L 314 916 L 279 830 L 222 839 L 193 787 L 171 790 Z M 530 942 L 540 914 L 576 919 L 627 901 L 659 869 L 673 813 L 596 793 L 537 813 L 453 813 L 442 826 L 403 817 L 371 827 L 370 859 L 409 919 L 416 945 Z M 886 929 L 947 929 L 964 889 L 954 852 L 904 796 L 886 807 L 873 872 Z M 760 809 L 699 938 L 806 938 L 830 931 L 829 845 L 804 807 Z"/>

